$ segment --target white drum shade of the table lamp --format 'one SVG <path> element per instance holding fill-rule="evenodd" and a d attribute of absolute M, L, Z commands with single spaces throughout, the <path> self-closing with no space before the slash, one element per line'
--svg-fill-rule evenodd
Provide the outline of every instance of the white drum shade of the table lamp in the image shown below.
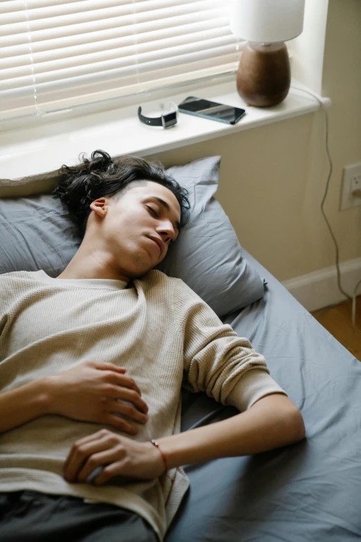
<path fill-rule="evenodd" d="M 232 0 L 230 28 L 250 42 L 286 42 L 302 33 L 305 0 Z"/>

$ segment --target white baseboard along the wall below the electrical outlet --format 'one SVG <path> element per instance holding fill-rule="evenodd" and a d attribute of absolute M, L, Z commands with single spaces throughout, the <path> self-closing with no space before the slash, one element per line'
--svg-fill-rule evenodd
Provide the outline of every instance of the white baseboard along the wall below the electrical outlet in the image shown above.
<path fill-rule="evenodd" d="M 340 264 L 341 286 L 349 296 L 361 280 L 361 258 Z M 336 266 L 282 282 L 284 287 L 307 309 L 316 311 L 346 300 L 337 287 Z M 361 284 L 357 293 L 361 293 Z"/>

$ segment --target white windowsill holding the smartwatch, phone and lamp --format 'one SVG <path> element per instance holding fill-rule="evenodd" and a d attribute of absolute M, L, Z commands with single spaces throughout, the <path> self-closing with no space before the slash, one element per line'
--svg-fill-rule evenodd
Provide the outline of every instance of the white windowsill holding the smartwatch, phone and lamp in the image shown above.
<path fill-rule="evenodd" d="M 148 100 L 150 104 L 156 104 L 160 99 L 178 104 L 186 96 L 199 96 L 246 109 L 246 115 L 233 126 L 181 113 L 177 125 L 172 128 L 147 126 L 140 123 L 137 116 L 138 105 L 145 103 L 140 97 L 137 105 L 62 119 L 61 114 L 49 115 L 45 122 L 42 118 L 36 119 L 37 125 L 24 125 L 1 133 L 0 176 L 4 180 L 0 179 L 0 186 L 19 185 L 24 177 L 54 172 L 64 163 L 75 165 L 79 163 L 81 152 L 90 156 L 94 150 L 101 149 L 113 157 L 122 154 L 147 156 L 320 109 L 315 98 L 293 89 L 292 85 L 306 89 L 293 81 L 286 100 L 266 109 L 248 107 L 237 93 L 235 80 L 198 86 L 192 92 L 176 89 L 158 100 Z M 331 105 L 329 98 L 318 98 L 326 107 Z M 6 179 L 12 179 L 12 182 Z"/>

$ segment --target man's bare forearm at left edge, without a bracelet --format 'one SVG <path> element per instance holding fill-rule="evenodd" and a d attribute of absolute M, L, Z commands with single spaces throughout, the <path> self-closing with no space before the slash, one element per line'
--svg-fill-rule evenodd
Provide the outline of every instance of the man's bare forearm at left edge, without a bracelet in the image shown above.
<path fill-rule="evenodd" d="M 0 393 L 0 433 L 10 431 L 47 413 L 46 379 L 39 379 L 15 390 Z"/>

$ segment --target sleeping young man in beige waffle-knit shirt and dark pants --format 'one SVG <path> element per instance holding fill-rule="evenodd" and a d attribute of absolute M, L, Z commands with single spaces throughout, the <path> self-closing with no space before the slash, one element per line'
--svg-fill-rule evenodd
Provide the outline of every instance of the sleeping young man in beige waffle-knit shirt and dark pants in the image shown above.
<path fill-rule="evenodd" d="M 161 165 L 95 151 L 54 195 L 83 234 L 71 262 L 0 275 L 0 539 L 162 541 L 182 465 L 298 442 L 302 415 L 246 338 L 153 269 L 189 209 Z M 180 433 L 183 379 L 240 413 Z"/>

